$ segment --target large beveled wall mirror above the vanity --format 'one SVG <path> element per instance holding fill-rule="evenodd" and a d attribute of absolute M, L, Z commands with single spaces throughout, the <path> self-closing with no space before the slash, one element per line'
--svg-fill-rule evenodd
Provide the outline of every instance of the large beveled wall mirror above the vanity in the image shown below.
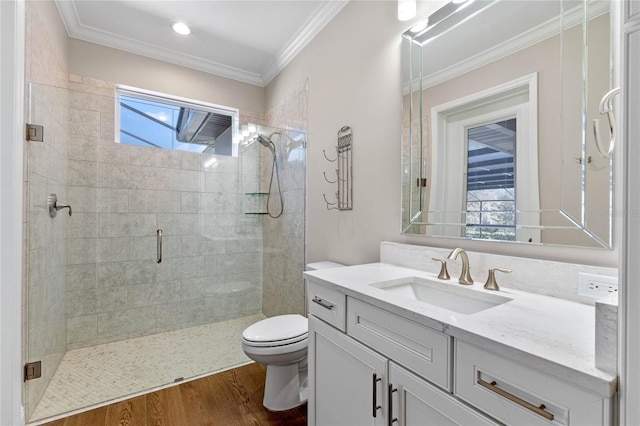
<path fill-rule="evenodd" d="M 455 0 L 403 34 L 403 233 L 612 247 L 613 6 Z"/>

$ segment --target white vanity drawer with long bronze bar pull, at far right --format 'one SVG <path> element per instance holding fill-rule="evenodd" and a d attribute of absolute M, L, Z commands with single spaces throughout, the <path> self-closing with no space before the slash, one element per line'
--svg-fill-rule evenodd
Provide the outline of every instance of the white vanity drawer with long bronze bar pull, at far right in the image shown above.
<path fill-rule="evenodd" d="M 456 339 L 454 393 L 505 424 L 610 425 L 611 398 Z"/>

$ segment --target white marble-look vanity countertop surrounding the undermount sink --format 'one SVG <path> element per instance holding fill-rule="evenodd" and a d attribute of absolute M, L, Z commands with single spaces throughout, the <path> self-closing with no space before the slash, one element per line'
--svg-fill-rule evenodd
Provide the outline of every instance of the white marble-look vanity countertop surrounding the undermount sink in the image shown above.
<path fill-rule="evenodd" d="M 437 279 L 434 274 L 416 269 L 371 263 L 307 271 L 304 276 L 602 396 L 616 392 L 617 376 L 595 367 L 593 306 L 507 288 L 493 292 L 484 290 L 483 284 L 476 282 L 464 288 L 499 294 L 512 300 L 464 315 L 371 285 L 409 277 Z M 457 277 L 439 281 L 443 286 L 462 287 Z"/>

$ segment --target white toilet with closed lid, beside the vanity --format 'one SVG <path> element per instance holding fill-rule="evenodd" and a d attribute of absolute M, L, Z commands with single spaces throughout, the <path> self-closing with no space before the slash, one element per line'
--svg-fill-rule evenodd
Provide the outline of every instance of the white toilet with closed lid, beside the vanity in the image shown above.
<path fill-rule="evenodd" d="M 307 265 L 307 270 L 344 266 L 334 262 Z M 295 408 L 307 401 L 309 325 L 302 315 L 278 315 L 250 325 L 242 332 L 242 350 L 267 366 L 262 404 L 271 411 Z"/>

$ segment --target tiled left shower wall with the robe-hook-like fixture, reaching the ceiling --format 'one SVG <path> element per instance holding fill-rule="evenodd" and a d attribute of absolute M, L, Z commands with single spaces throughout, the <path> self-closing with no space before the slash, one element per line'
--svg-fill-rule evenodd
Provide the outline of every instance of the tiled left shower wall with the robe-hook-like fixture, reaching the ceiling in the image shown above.
<path fill-rule="evenodd" d="M 47 198 L 67 197 L 67 76 L 64 55 L 43 21 L 40 2 L 27 2 L 25 117 L 44 126 L 43 142 L 25 143 L 25 322 L 23 359 L 42 361 L 42 377 L 24 386 L 27 418 L 65 352 L 68 216 L 49 217 Z M 29 84 L 30 83 L 30 84 Z"/>

